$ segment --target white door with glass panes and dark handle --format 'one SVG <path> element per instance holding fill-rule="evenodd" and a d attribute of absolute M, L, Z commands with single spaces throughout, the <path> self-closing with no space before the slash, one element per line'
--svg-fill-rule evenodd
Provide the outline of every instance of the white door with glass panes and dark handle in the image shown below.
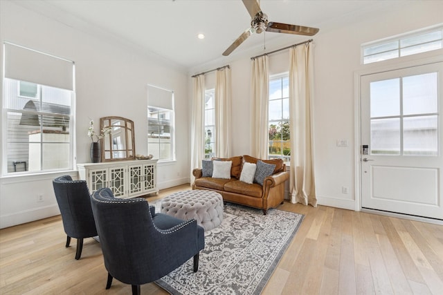
<path fill-rule="evenodd" d="M 443 62 L 361 77 L 361 205 L 443 219 Z"/>

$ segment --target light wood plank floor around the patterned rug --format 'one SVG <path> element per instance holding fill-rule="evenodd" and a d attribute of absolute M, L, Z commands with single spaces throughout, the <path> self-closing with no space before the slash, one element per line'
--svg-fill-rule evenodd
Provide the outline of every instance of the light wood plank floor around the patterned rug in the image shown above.
<path fill-rule="evenodd" d="M 188 185 L 161 191 L 163 198 Z M 443 226 L 285 202 L 305 214 L 263 294 L 443 294 Z M 0 230 L 0 294 L 130 294 L 107 272 L 100 245 L 65 248 L 60 216 Z M 201 261 L 200 263 L 204 263 Z M 167 294 L 150 283 L 142 294 Z"/>

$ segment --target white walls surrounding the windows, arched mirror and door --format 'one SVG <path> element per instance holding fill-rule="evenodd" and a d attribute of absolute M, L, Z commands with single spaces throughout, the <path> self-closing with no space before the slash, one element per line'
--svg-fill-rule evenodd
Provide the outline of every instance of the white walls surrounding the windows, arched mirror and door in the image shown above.
<path fill-rule="evenodd" d="M 0 39 L 29 46 L 75 61 L 77 86 L 77 161 L 89 162 L 89 117 L 119 115 L 134 120 L 136 152 L 146 150 L 146 84 L 174 90 L 177 120 L 177 162 L 159 167 L 159 187 L 189 182 L 190 75 L 162 64 L 118 42 L 93 37 L 60 21 L 42 17 L 9 1 L 0 1 Z M 354 72 L 362 70 L 360 45 L 364 42 L 443 23 L 443 1 L 398 1 L 390 9 L 370 15 L 352 15 L 352 26 L 322 26 L 314 36 L 315 158 L 319 204 L 355 209 L 355 102 Z M 345 23 L 345 19 L 341 23 Z M 291 44 L 282 44 L 280 47 Z M 273 49 L 269 46 L 270 50 Z M 1 49 L 3 50 L 3 49 Z M 260 53 L 257 53 L 260 54 Z M 438 52 L 441 54 L 441 51 Z M 1 54 L 1 57 L 3 55 Z M 253 56 L 253 55 L 251 55 Z M 271 73 L 281 73 L 288 53 L 270 55 Z M 388 61 L 389 62 L 389 61 Z M 3 64 L 3 61 L 2 61 Z M 226 64 L 226 63 L 225 63 Z M 196 65 L 192 74 L 225 64 Z M 250 153 L 248 135 L 253 132 L 249 108 L 249 57 L 231 61 L 233 86 L 233 155 Z M 287 70 L 287 69 L 286 69 Z M 183 111 L 188 110 L 188 111 Z M 336 140 L 349 146 L 337 147 Z M 70 174 L 77 175 L 75 171 Z M 0 227 L 44 218 L 57 213 L 51 180 L 54 174 L 0 179 Z M 341 187 L 349 188 L 348 194 Z M 44 202 L 36 202 L 37 194 Z"/>

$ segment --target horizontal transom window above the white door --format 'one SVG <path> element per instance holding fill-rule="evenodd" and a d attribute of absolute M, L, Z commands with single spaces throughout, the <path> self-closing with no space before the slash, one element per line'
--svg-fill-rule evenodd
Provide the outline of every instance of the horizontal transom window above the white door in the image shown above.
<path fill-rule="evenodd" d="M 442 49 L 443 28 L 422 30 L 362 47 L 363 64 Z"/>

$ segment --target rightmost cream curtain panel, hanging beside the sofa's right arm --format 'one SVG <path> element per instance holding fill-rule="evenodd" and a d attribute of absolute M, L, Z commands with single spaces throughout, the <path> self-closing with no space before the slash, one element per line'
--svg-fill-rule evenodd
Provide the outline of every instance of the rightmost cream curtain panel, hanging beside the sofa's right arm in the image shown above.
<path fill-rule="evenodd" d="M 314 178 L 312 46 L 289 50 L 289 117 L 291 128 L 291 202 L 317 207 Z"/>

